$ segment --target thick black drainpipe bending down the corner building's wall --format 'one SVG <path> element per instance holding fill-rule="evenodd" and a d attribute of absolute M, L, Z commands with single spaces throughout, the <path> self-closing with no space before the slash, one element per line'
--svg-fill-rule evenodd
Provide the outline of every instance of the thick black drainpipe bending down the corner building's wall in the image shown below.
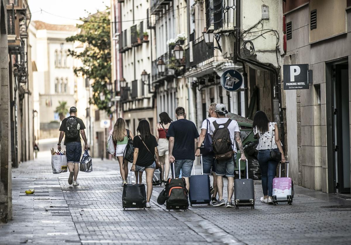
<path fill-rule="evenodd" d="M 273 87 L 274 87 L 274 99 L 273 99 L 273 116 L 274 120 L 277 122 L 277 126 L 279 128 L 279 132 L 281 135 L 281 139 L 283 141 L 283 149 L 284 149 L 284 122 L 283 119 L 283 111 L 281 108 L 282 101 L 281 101 L 281 94 L 280 94 L 280 86 L 278 81 L 278 72 L 277 69 L 274 68 L 272 64 L 266 65 L 256 60 L 247 59 L 240 54 L 240 26 L 241 26 L 241 0 L 237 0 L 236 6 L 236 28 L 235 28 L 235 54 L 234 60 L 238 60 L 241 62 L 247 62 L 249 64 L 258 66 L 266 71 L 270 71 L 273 73 Z M 244 85 L 245 86 L 245 85 Z M 245 96 L 246 97 L 246 96 Z M 246 99 L 246 98 L 245 98 Z"/>

